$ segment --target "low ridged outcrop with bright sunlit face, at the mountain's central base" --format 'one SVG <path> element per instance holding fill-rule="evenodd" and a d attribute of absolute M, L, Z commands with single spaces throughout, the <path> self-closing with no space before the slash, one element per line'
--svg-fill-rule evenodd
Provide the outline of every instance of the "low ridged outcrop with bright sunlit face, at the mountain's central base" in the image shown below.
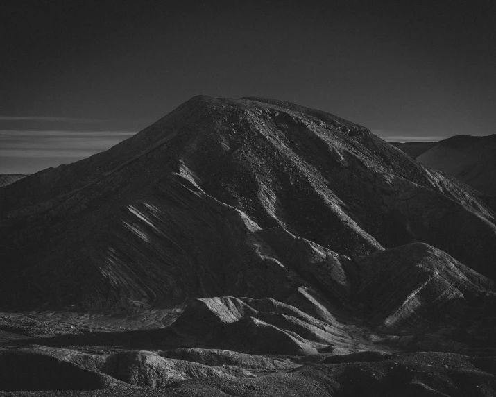
<path fill-rule="evenodd" d="M 197 298 L 173 324 L 203 344 L 258 354 L 311 355 L 332 344 L 326 324 L 271 299 Z M 329 329 L 329 327 L 327 327 Z"/>

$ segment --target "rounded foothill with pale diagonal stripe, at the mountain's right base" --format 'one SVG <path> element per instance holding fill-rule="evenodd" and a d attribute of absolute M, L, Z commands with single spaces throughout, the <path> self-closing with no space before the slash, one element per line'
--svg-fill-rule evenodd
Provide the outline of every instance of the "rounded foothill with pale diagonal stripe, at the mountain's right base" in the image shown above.
<path fill-rule="evenodd" d="M 493 282 L 427 244 L 360 257 L 357 299 L 369 321 L 386 332 L 425 332 L 463 319 Z"/>

